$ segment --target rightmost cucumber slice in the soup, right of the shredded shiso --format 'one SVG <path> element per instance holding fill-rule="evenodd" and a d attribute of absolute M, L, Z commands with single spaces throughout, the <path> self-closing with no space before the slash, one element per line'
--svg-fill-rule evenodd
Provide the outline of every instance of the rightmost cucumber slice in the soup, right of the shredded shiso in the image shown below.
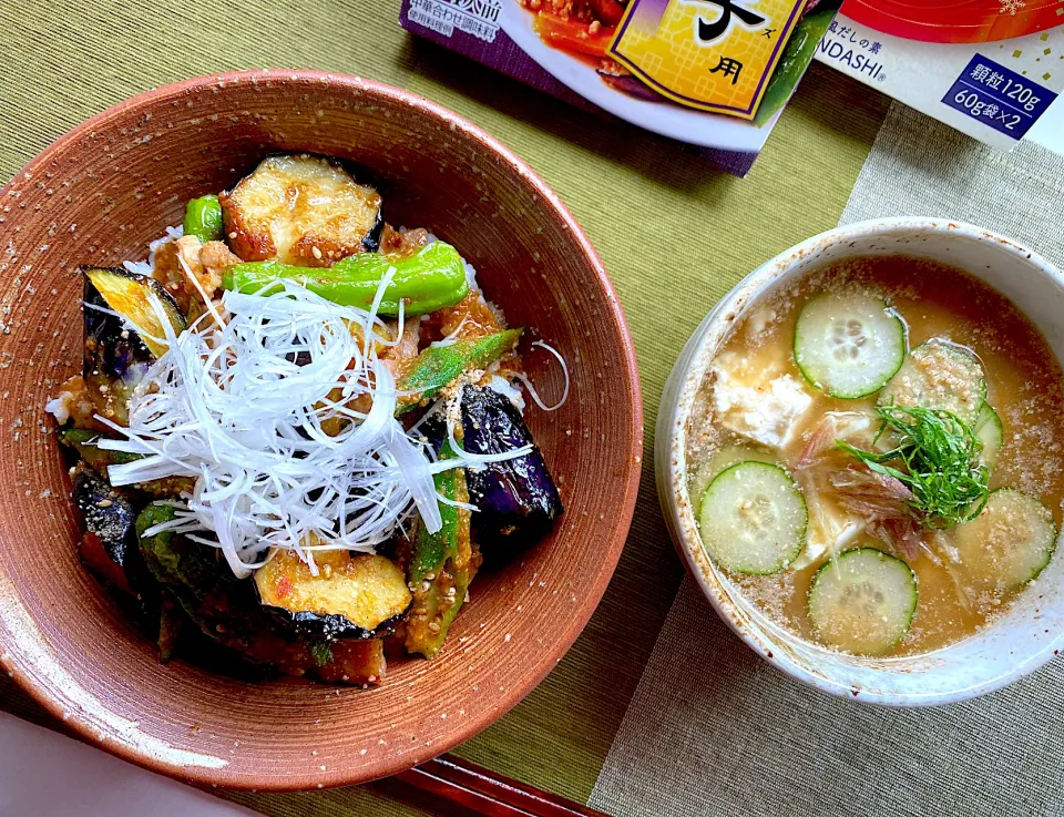
<path fill-rule="evenodd" d="M 1056 525 L 1034 497 L 1000 488 L 982 513 L 953 529 L 953 544 L 972 588 L 1004 593 L 1022 588 L 1050 563 Z"/>

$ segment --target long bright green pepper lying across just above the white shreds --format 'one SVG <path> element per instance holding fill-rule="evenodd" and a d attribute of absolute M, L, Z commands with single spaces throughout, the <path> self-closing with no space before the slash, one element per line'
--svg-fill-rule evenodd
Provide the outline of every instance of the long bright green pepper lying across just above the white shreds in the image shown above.
<path fill-rule="evenodd" d="M 323 298 L 341 306 L 368 308 L 377 296 L 380 280 L 395 268 L 378 313 L 399 314 L 402 303 L 407 315 L 424 315 L 453 306 L 469 293 L 462 258 L 450 244 L 433 242 L 408 256 L 360 253 L 341 258 L 331 267 L 296 267 L 278 261 L 236 264 L 225 270 L 222 286 L 242 293 L 276 292 L 277 279 L 301 284 Z"/>

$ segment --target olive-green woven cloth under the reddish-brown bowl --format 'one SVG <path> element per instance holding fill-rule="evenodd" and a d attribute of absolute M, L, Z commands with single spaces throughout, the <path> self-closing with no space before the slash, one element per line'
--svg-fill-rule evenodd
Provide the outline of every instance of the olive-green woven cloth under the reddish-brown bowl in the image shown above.
<path fill-rule="evenodd" d="M 646 401 L 643 490 L 617 574 L 575 647 L 458 754 L 585 801 L 682 573 L 649 456 L 672 362 L 739 278 L 837 224 L 886 103 L 814 65 L 754 172 L 737 180 L 675 144 L 416 41 L 398 16 L 399 0 L 3 0 L 0 180 L 86 116 L 146 88 L 280 67 L 362 74 L 417 91 L 501 137 L 557 191 L 602 254 L 635 338 Z M 0 708 L 52 725 L 7 678 Z M 286 817 L 419 813 L 366 787 L 229 796 Z"/>

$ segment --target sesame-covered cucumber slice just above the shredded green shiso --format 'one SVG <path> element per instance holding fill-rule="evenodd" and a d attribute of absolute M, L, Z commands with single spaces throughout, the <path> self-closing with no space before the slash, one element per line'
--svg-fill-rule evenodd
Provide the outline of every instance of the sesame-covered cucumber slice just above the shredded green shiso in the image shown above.
<path fill-rule="evenodd" d="M 986 378 L 979 358 L 962 346 L 931 338 L 909 353 L 879 396 L 879 405 L 952 411 L 971 426 L 985 399 Z"/>

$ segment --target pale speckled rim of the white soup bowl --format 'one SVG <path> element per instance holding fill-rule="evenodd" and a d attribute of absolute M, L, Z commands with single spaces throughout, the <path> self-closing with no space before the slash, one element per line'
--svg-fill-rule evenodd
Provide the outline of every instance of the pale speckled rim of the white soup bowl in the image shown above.
<path fill-rule="evenodd" d="M 1033 658 L 1020 661 L 1004 673 L 981 683 L 958 686 L 955 690 L 933 694 L 890 692 L 884 690 L 855 690 L 848 684 L 831 677 L 831 672 L 819 672 L 804 658 L 791 655 L 791 651 L 781 647 L 770 636 L 760 637 L 748 625 L 743 615 L 723 592 L 715 568 L 705 555 L 697 530 L 694 527 L 692 501 L 684 481 L 686 466 L 685 426 L 690 411 L 697 386 L 700 385 L 709 355 L 725 337 L 730 324 L 756 300 L 774 282 L 784 277 L 794 266 L 817 255 L 827 247 L 845 245 L 858 238 L 874 237 L 890 233 L 908 232 L 911 235 L 939 233 L 955 235 L 973 242 L 989 242 L 1003 248 L 1017 259 L 1030 264 L 1042 276 L 1055 278 L 1064 284 L 1064 272 L 1044 256 L 1029 249 L 1011 238 L 983 227 L 951 218 L 931 216 L 893 216 L 871 218 L 835 227 L 811 236 L 795 246 L 785 249 L 775 257 L 746 275 L 710 309 L 692 334 L 677 359 L 662 394 L 655 433 L 655 473 L 658 501 L 665 517 L 666 527 L 673 544 L 679 554 L 684 568 L 694 579 L 702 594 L 709 601 L 717 615 L 754 650 L 766 663 L 790 677 L 808 684 L 836 697 L 864 704 L 878 704 L 893 707 L 937 706 L 978 697 L 1000 690 L 1027 675 L 1047 663 L 1054 655 L 1056 641 L 1043 647 Z M 899 253 L 903 254 L 903 253 Z M 1041 327 L 1039 327 L 1041 329 Z M 1064 360 L 1061 360 L 1064 365 Z M 1064 532 L 1061 534 L 1064 541 Z M 706 566 L 709 565 L 709 570 Z M 816 647 L 815 644 L 809 644 Z M 825 652 L 827 649 L 821 647 Z"/>

